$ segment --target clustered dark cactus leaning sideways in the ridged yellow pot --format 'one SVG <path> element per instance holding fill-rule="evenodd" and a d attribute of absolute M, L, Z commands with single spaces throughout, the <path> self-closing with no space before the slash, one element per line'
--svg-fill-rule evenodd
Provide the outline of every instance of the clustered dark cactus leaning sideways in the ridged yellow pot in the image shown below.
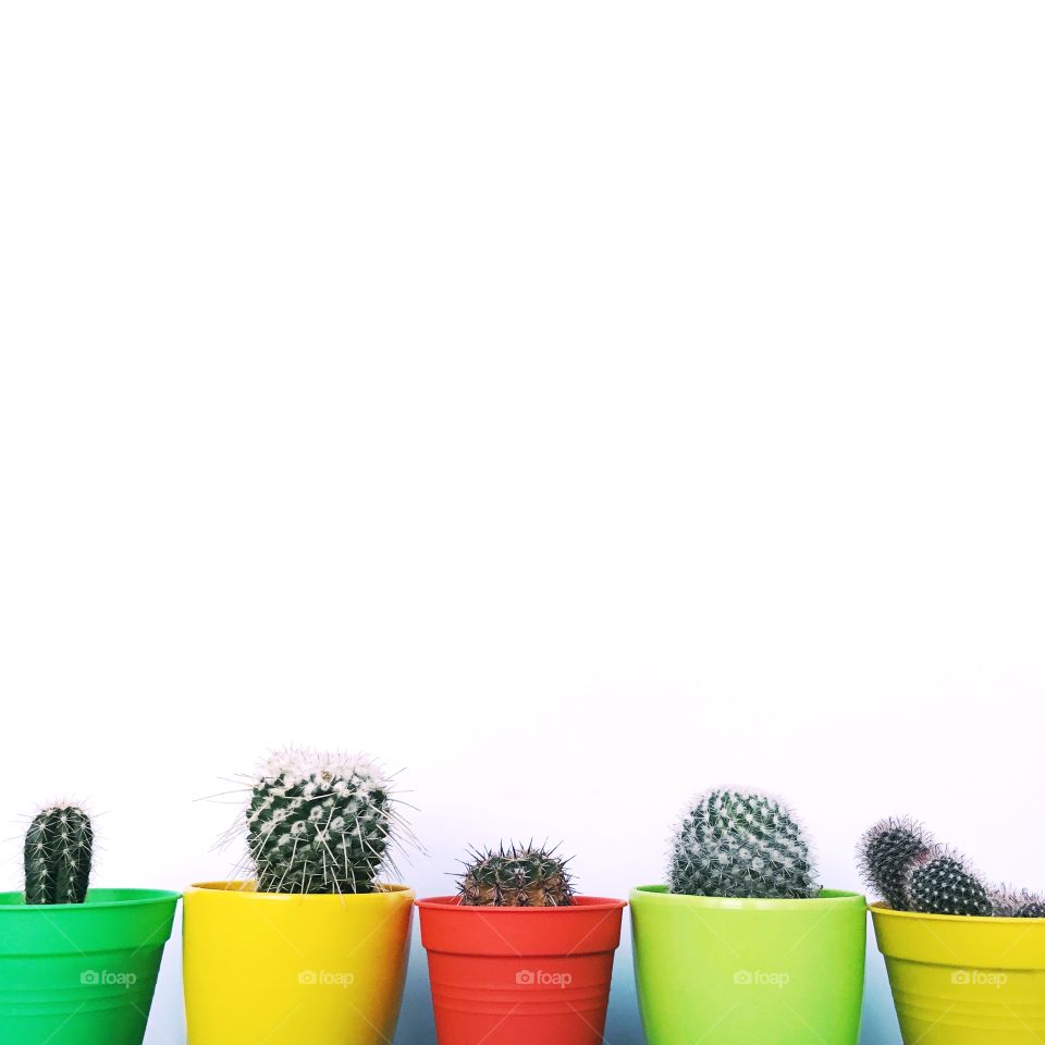
<path fill-rule="evenodd" d="M 992 888 L 964 857 L 933 843 L 914 821 L 880 821 L 860 839 L 857 855 L 868 887 L 895 911 L 1045 918 L 1041 897 Z"/>

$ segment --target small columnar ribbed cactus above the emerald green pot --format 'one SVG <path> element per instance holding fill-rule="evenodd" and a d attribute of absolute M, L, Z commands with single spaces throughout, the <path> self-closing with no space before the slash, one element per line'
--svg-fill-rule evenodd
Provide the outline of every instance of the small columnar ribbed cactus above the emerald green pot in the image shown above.
<path fill-rule="evenodd" d="M 94 832 L 77 806 L 48 806 L 25 835 L 25 902 L 83 903 L 87 897 Z"/>

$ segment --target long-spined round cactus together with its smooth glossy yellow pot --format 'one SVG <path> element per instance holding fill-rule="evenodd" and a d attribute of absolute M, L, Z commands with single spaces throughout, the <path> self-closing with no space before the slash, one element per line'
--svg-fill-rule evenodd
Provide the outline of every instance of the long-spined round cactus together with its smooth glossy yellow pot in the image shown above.
<path fill-rule="evenodd" d="M 247 782 L 253 876 L 185 894 L 192 1045 L 386 1045 L 414 894 L 384 881 L 409 838 L 389 775 L 341 752 L 283 750 Z"/>

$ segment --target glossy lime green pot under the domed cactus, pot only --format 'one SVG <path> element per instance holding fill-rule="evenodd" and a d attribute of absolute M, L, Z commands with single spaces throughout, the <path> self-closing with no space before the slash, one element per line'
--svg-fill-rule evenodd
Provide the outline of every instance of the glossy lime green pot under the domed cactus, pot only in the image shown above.
<path fill-rule="evenodd" d="M 632 889 L 631 934 L 649 1045 L 856 1045 L 866 903 Z"/>

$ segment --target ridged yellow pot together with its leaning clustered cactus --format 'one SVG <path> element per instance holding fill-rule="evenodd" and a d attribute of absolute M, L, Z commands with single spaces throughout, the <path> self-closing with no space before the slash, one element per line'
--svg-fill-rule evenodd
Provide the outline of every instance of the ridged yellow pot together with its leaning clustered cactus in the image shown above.
<path fill-rule="evenodd" d="M 1045 1040 L 1045 901 L 992 886 L 909 817 L 860 840 L 878 950 L 907 1045 Z"/>

